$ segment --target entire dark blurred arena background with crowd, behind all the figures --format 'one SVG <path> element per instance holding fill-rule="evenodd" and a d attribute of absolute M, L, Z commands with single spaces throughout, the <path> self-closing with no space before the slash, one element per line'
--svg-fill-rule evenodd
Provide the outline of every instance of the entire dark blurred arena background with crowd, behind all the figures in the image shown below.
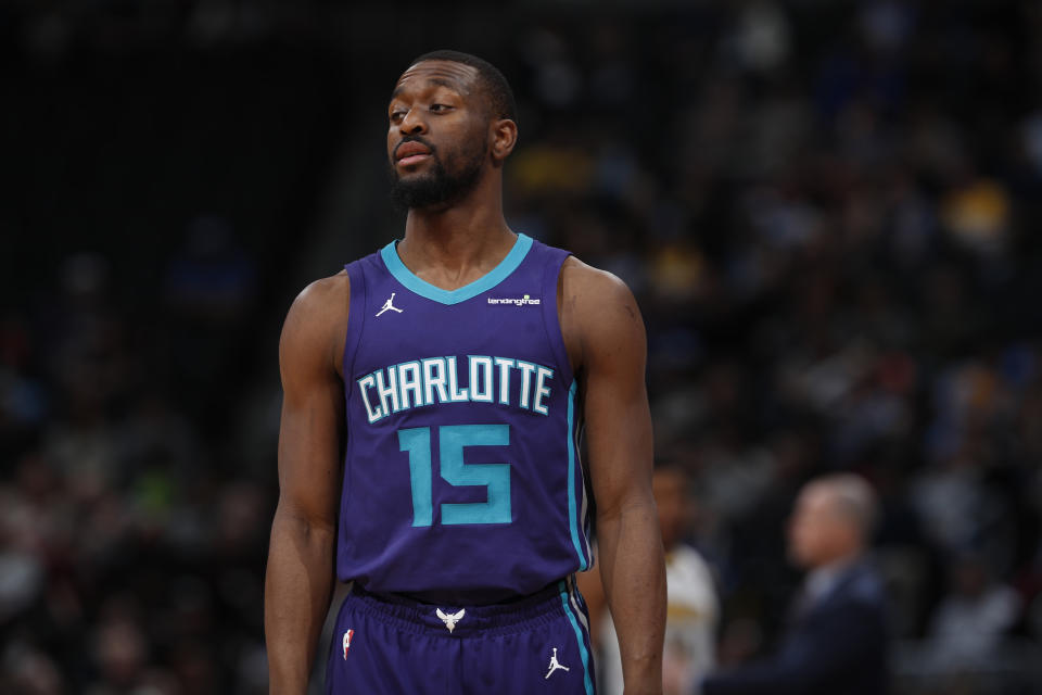
<path fill-rule="evenodd" d="M 778 634 L 797 488 L 854 470 L 897 691 L 1040 692 L 1040 37 L 1027 0 L 3 2 L 0 691 L 265 692 L 281 320 L 401 235 L 386 99 L 458 48 L 519 98 L 513 228 L 645 312 L 721 661 Z"/>

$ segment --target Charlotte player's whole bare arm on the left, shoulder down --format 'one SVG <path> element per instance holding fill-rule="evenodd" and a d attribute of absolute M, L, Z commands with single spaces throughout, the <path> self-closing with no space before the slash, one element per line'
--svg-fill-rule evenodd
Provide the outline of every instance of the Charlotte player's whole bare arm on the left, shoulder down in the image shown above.
<path fill-rule="evenodd" d="M 272 694 L 307 691 L 332 593 L 344 422 L 338 366 L 347 296 L 344 274 L 312 283 L 293 302 L 279 341 L 283 390 L 279 504 L 271 523 L 264 601 Z"/>

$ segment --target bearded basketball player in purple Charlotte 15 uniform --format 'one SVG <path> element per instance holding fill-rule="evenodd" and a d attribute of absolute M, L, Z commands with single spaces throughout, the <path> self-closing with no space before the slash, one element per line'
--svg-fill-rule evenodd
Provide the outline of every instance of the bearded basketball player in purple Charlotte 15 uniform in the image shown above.
<path fill-rule="evenodd" d="M 279 348 L 271 692 L 306 690 L 335 543 L 352 590 L 327 692 L 589 695 L 574 573 L 590 564 L 593 511 L 626 692 L 660 693 L 665 591 L 633 295 L 507 226 L 518 127 L 495 67 L 428 53 L 387 113 L 405 236 L 305 289 Z"/>

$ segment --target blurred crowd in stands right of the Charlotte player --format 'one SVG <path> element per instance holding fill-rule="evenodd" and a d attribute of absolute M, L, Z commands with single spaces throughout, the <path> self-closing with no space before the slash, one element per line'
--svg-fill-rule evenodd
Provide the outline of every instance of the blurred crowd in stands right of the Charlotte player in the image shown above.
<path fill-rule="evenodd" d="M 1042 12 L 736 5 L 536 30 L 546 135 L 512 163 L 518 219 L 637 292 L 722 664 L 784 619 L 799 485 L 846 470 L 881 496 L 899 670 L 1020 692 L 1011 660 L 1042 639 Z"/>

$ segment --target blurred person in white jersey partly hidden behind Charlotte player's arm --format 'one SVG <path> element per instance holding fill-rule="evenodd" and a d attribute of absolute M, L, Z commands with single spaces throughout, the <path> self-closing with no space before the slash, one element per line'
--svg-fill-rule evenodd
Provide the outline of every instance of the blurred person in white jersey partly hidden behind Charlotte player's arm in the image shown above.
<path fill-rule="evenodd" d="M 714 643 L 720 615 L 713 576 L 694 547 L 684 542 L 690 528 L 691 481 L 679 466 L 656 469 L 652 480 L 665 548 L 666 621 L 662 653 L 663 695 L 689 693 L 715 664 Z M 598 692 L 623 692 L 622 659 L 615 629 L 605 604 L 599 566 L 580 574 L 580 592 L 589 608 L 595 635 Z"/>

